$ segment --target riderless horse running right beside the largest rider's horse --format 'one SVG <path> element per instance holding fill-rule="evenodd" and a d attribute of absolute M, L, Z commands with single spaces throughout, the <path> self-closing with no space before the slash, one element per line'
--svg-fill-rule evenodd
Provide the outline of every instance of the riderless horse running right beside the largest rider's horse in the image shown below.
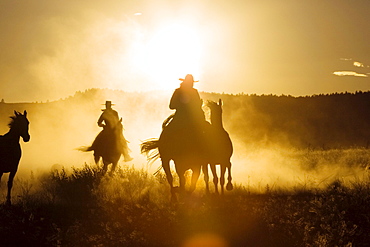
<path fill-rule="evenodd" d="M 215 185 L 215 193 L 218 194 L 218 176 L 216 172 L 216 165 L 220 165 L 220 186 L 221 194 L 224 194 L 225 172 L 228 170 L 228 183 L 226 190 L 232 190 L 233 184 L 231 182 L 231 161 L 230 158 L 233 154 L 233 144 L 230 136 L 223 127 L 222 123 L 222 100 L 219 99 L 218 103 L 208 101 L 206 104 L 211 110 L 211 125 L 207 130 L 208 141 L 208 162 L 213 174 L 213 183 Z M 209 193 L 209 175 L 208 164 L 202 167 L 204 173 L 204 181 L 206 184 L 206 191 Z"/>

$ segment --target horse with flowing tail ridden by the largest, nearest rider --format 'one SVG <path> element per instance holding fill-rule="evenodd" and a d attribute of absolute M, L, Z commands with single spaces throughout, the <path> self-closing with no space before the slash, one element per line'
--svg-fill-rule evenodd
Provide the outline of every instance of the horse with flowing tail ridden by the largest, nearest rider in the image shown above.
<path fill-rule="evenodd" d="M 204 156 L 204 133 L 202 128 L 184 125 L 171 125 L 173 116 L 169 116 L 162 125 L 159 139 L 153 138 L 141 144 L 141 153 L 146 153 L 149 162 L 160 158 L 167 181 L 170 185 L 171 199 L 176 201 L 176 193 L 185 194 L 185 172 L 192 170 L 191 185 L 188 194 L 195 188 L 200 176 L 201 167 L 207 164 Z M 173 185 L 173 176 L 170 170 L 170 161 L 173 160 L 179 177 L 179 186 Z"/>

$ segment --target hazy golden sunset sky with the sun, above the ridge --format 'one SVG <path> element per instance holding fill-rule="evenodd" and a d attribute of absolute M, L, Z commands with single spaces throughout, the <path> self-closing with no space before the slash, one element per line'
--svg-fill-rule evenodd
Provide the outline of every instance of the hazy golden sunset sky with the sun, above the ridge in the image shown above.
<path fill-rule="evenodd" d="M 0 98 L 88 88 L 293 96 L 370 90 L 369 0 L 0 2 Z"/>

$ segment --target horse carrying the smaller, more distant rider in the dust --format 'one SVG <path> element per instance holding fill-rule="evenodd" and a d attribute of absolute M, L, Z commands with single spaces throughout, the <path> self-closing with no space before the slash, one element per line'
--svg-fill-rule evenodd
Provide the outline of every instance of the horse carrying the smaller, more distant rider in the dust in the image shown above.
<path fill-rule="evenodd" d="M 94 151 L 95 163 L 98 164 L 100 158 L 103 160 L 103 174 L 107 172 L 109 164 L 112 164 L 110 173 L 113 174 L 123 154 L 123 142 L 126 142 L 122 136 L 122 131 L 121 118 L 113 128 L 104 126 L 104 129 L 98 134 L 91 146 L 80 147 L 78 150 L 83 152 Z"/>

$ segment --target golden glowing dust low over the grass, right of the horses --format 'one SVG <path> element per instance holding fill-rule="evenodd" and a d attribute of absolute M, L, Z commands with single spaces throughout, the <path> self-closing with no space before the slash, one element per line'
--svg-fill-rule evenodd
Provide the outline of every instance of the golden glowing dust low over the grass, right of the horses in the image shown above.
<path fill-rule="evenodd" d="M 235 153 L 233 177 L 250 192 L 322 189 L 336 181 L 351 186 L 369 179 L 369 163 L 366 149 L 250 148 Z"/>

